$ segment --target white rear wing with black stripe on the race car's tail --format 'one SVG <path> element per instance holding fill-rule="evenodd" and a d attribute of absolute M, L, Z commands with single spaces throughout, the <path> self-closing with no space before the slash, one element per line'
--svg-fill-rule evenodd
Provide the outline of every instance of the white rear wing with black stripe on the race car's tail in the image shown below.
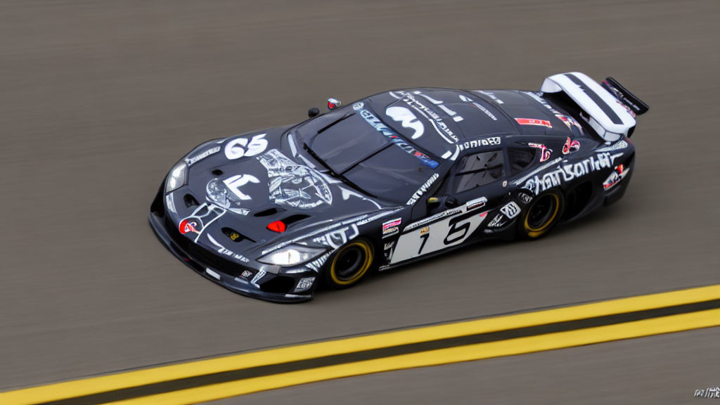
<path fill-rule="evenodd" d="M 611 77 L 601 86 L 580 72 L 556 74 L 545 79 L 540 91 L 567 94 L 580 107 L 580 117 L 606 141 L 630 136 L 635 128 L 635 116 L 649 110 L 647 104 Z"/>

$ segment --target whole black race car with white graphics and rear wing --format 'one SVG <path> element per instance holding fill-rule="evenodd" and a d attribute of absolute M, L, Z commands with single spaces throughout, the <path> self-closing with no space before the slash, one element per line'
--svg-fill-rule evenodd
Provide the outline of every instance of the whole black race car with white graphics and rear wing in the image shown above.
<path fill-rule="evenodd" d="M 207 141 L 167 174 L 150 226 L 243 295 L 312 298 L 488 239 L 537 239 L 621 198 L 647 104 L 612 78 L 539 92 L 401 89 L 300 124 Z"/>

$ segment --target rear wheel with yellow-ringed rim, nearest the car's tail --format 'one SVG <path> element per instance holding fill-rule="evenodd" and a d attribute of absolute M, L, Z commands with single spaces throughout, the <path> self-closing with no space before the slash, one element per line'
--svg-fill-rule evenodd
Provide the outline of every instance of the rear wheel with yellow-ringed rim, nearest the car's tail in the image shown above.
<path fill-rule="evenodd" d="M 565 199 L 558 190 L 549 190 L 535 197 L 518 221 L 518 234 L 523 239 L 539 239 L 552 231 L 562 218 Z"/>

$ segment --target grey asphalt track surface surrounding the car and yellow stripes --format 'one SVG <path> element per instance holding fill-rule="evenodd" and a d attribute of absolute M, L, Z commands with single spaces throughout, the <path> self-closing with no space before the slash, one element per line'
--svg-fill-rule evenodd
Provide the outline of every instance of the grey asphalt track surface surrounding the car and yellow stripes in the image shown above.
<path fill-rule="evenodd" d="M 1 0 L 0 389 L 720 282 L 718 17 L 714 0 Z M 207 139 L 303 120 L 327 97 L 538 89 L 564 71 L 613 76 L 652 109 L 624 200 L 541 241 L 465 249 L 282 306 L 194 274 L 146 223 L 164 174 Z M 587 382 L 557 380 L 608 375 L 598 395 L 644 402 L 647 390 L 720 383 L 717 357 L 703 357 L 718 342 L 690 331 L 356 383 L 376 402 L 395 402 L 396 385 L 404 401 L 434 401 L 428 390 L 451 380 L 457 403 L 485 402 L 485 386 L 493 403 L 557 404 L 589 395 Z M 618 378 L 629 358 L 645 367 L 636 384 Z M 522 390 L 518 375 L 566 365 L 542 375 L 557 386 Z M 246 398 L 341 399 L 347 381 Z"/>

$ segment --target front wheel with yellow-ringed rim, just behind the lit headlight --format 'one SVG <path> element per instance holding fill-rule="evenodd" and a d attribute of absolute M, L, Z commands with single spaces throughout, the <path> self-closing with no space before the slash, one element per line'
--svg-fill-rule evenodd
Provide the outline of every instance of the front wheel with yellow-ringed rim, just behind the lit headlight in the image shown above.
<path fill-rule="evenodd" d="M 366 239 L 355 239 L 341 246 L 328 259 L 323 272 L 325 285 L 342 290 L 356 285 L 375 262 L 374 246 Z"/>

